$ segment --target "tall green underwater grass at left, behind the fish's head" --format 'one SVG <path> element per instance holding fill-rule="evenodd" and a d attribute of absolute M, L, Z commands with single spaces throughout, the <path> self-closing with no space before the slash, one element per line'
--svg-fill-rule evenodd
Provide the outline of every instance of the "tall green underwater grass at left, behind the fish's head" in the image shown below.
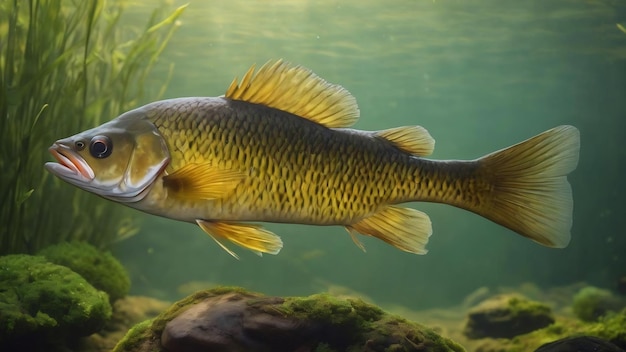
<path fill-rule="evenodd" d="M 0 255 L 65 240 L 102 248 L 137 231 L 130 210 L 43 168 L 56 137 L 138 104 L 184 10 L 154 10 L 135 30 L 122 25 L 123 8 L 123 1 L 0 0 Z M 164 90 L 151 86 L 160 91 L 150 99 Z"/>

